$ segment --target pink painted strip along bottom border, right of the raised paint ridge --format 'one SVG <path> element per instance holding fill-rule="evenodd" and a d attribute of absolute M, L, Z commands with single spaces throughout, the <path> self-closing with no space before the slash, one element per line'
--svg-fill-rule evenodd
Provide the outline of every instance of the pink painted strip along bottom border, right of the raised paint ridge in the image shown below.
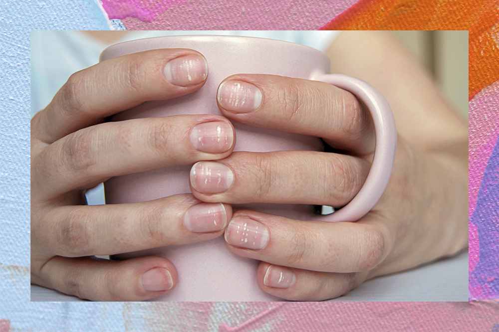
<path fill-rule="evenodd" d="M 499 304 L 480 302 L 284 303 L 219 332 L 494 331 Z M 265 327 L 265 329 L 262 329 Z M 268 330 L 268 327 L 271 327 Z"/>

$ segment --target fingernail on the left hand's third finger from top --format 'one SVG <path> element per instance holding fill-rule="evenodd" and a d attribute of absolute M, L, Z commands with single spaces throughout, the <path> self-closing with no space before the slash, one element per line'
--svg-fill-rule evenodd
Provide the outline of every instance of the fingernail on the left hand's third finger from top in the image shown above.
<path fill-rule="evenodd" d="M 227 224 L 227 212 L 222 203 L 199 203 L 184 214 L 184 226 L 194 233 L 216 232 Z"/>

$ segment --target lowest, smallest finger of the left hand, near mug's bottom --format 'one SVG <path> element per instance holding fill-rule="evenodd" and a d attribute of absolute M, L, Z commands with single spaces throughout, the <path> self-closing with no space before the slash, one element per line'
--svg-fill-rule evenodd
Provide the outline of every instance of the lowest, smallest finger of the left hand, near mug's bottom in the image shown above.
<path fill-rule="evenodd" d="M 92 301 L 145 301 L 177 284 L 175 266 L 162 257 L 110 261 L 55 256 L 32 283 Z"/>

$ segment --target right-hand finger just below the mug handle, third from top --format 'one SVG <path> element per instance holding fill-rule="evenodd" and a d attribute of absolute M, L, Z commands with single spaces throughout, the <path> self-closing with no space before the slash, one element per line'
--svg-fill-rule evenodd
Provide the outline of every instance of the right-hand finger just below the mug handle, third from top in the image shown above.
<path fill-rule="evenodd" d="M 240 256 L 338 273 L 372 270 L 392 246 L 379 223 L 300 221 L 248 210 L 234 214 L 225 240 Z"/>

